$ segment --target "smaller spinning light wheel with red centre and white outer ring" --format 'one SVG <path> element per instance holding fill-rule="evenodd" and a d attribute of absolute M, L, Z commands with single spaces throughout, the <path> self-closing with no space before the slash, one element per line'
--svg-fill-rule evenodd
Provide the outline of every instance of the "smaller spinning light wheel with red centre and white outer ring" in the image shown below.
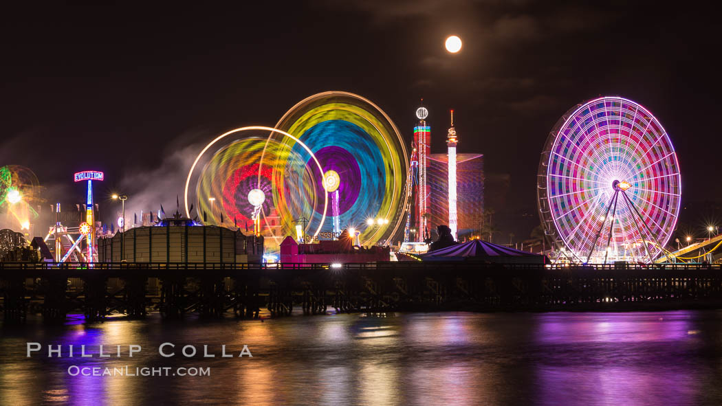
<path fill-rule="evenodd" d="M 315 206 L 320 208 L 318 223 L 308 224 L 308 229 L 313 232 L 312 235 L 318 235 L 326 220 L 329 199 L 325 193 L 318 200 L 308 194 L 308 190 L 313 190 L 314 185 L 323 183 L 321 176 L 313 177 L 308 167 L 316 169 L 316 173 L 322 173 L 321 164 L 303 141 L 285 131 L 261 125 L 227 131 L 207 144 L 196 156 L 188 171 L 183 194 L 186 216 L 191 216 L 188 204 L 191 198 L 189 194 L 191 180 L 196 166 L 206 151 L 228 136 L 248 132 L 258 133 L 258 131 L 264 134 L 278 133 L 282 139 L 292 140 L 298 145 L 298 149 L 291 151 L 288 146 L 277 141 L 253 136 L 247 136 L 219 149 L 205 164 L 200 175 L 196 175 L 195 204 L 199 208 L 199 213 L 205 213 L 204 223 L 247 227 L 254 211 L 253 204 L 248 200 L 248 194 L 254 189 L 259 189 L 264 194 L 264 201 L 261 202 L 263 219 L 261 232 L 264 237 L 273 238 L 269 241 L 270 247 L 279 244 L 286 235 L 290 235 L 296 216 L 310 215 Z M 272 199 L 269 199 L 269 196 Z M 219 199 L 219 207 L 210 206 L 209 198 Z M 280 212 L 284 215 L 279 215 Z M 312 226 L 313 228 L 310 228 Z"/>

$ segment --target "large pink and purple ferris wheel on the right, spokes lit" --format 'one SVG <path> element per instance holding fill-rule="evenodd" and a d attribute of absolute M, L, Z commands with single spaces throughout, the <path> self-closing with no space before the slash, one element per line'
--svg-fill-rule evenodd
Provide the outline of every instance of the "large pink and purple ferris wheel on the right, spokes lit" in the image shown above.
<path fill-rule="evenodd" d="M 666 131 L 622 97 L 568 110 L 541 153 L 541 223 L 554 248 L 575 262 L 653 262 L 674 231 L 681 193 Z"/>

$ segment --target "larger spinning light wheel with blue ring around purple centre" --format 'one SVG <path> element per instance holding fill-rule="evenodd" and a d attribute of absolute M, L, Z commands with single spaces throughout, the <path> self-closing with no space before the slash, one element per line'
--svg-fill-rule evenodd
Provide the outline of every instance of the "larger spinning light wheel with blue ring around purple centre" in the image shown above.
<path fill-rule="evenodd" d="M 409 167 L 403 138 L 391 118 L 357 94 L 323 92 L 297 103 L 276 128 L 308 145 L 321 162 L 322 173 L 331 174 L 331 181 L 338 182 L 333 190 L 316 184 L 313 195 L 337 193 L 334 211 L 337 204 L 338 219 L 334 221 L 341 229 L 361 231 L 362 244 L 390 242 L 403 220 L 405 174 Z M 295 152 L 300 150 L 290 138 L 278 134 L 271 134 L 269 140 L 288 145 Z M 321 176 L 311 165 L 308 171 L 314 179 Z M 316 203 L 315 212 L 321 209 Z M 388 221 L 368 227 L 365 221 L 371 217 Z M 324 231 L 332 231 L 332 223 L 327 222 Z"/>

